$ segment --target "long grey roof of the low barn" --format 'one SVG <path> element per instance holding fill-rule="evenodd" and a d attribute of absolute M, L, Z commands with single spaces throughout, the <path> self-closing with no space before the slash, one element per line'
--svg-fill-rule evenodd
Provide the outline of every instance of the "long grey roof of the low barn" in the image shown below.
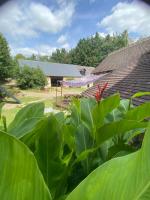
<path fill-rule="evenodd" d="M 61 76 L 61 77 L 81 77 L 76 65 L 50 63 L 32 60 L 18 60 L 20 67 L 28 65 L 30 67 L 39 67 L 46 76 Z"/>

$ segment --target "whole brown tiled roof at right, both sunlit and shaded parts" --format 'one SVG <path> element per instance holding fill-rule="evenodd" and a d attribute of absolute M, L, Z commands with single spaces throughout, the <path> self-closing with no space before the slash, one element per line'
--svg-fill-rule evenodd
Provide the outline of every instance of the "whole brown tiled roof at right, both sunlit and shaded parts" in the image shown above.
<path fill-rule="evenodd" d="M 101 86 L 105 82 L 108 82 L 109 86 L 104 97 L 120 92 L 122 98 L 129 98 L 136 92 L 150 91 L 150 38 L 124 48 L 124 50 L 116 51 L 102 63 L 104 71 L 108 71 L 106 63 L 111 63 L 113 71 L 103 76 L 93 87 L 84 91 L 82 93 L 84 96 L 93 97 L 97 90 L 96 85 Z M 95 71 L 103 72 L 99 70 L 99 66 Z M 137 98 L 134 104 L 138 105 L 145 101 L 150 101 L 150 96 Z"/>

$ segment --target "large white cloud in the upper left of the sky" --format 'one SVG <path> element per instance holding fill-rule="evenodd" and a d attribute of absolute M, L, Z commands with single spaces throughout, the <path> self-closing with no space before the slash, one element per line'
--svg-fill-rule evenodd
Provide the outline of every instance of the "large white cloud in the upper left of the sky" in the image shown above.
<path fill-rule="evenodd" d="M 12 36 L 37 36 L 39 32 L 57 33 L 69 26 L 75 12 L 73 1 L 59 2 L 57 9 L 41 3 L 24 6 L 9 1 L 0 7 L 0 32 Z M 64 6 L 65 5 L 65 6 Z"/>

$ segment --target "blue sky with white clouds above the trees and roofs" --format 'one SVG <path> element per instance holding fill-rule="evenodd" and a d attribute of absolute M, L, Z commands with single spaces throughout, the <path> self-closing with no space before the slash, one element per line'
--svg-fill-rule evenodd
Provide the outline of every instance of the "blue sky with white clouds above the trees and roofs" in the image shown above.
<path fill-rule="evenodd" d="M 134 40 L 150 36 L 150 7 L 137 0 L 10 0 L 0 4 L 0 32 L 12 55 L 51 55 L 98 32 L 128 30 Z"/>

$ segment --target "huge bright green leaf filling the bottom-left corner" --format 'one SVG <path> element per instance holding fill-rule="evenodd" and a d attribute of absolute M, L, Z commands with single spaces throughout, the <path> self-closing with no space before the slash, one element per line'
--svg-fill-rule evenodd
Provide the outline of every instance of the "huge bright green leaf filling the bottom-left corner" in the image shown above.
<path fill-rule="evenodd" d="M 0 177 L 2 200 L 51 200 L 33 154 L 3 132 L 0 132 Z"/>

